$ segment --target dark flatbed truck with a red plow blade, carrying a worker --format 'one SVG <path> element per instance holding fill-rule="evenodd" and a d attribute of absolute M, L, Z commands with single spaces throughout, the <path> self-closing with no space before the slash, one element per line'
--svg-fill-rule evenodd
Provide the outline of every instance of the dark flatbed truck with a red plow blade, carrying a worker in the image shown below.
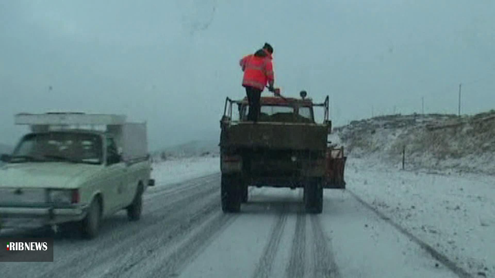
<path fill-rule="evenodd" d="M 247 121 L 246 97 L 226 98 L 219 143 L 224 212 L 240 211 L 249 186 L 303 188 L 308 213 L 322 212 L 324 188 L 345 189 L 344 148 L 328 141 L 329 97 L 314 103 L 305 91 L 299 95 L 261 97 L 257 122 Z M 315 107 L 323 108 L 322 122 Z"/>

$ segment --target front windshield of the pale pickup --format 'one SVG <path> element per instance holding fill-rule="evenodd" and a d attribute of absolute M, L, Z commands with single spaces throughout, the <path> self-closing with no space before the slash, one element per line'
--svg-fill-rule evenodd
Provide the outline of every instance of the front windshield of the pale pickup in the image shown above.
<path fill-rule="evenodd" d="M 74 132 L 27 135 L 14 150 L 10 162 L 33 161 L 101 164 L 101 138 Z"/>

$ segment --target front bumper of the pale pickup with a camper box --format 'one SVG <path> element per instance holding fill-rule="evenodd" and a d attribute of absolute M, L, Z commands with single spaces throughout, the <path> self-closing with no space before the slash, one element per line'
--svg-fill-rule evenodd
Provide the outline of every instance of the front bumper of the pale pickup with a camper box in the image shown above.
<path fill-rule="evenodd" d="M 87 206 L 70 207 L 2 207 L 1 228 L 30 228 L 82 220 Z"/>

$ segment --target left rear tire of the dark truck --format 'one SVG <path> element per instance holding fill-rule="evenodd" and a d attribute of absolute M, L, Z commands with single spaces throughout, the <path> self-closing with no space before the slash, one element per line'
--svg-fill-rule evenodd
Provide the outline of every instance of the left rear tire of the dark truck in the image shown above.
<path fill-rule="evenodd" d="M 242 180 L 240 175 L 222 175 L 221 198 L 223 212 L 239 212 L 242 201 Z"/>

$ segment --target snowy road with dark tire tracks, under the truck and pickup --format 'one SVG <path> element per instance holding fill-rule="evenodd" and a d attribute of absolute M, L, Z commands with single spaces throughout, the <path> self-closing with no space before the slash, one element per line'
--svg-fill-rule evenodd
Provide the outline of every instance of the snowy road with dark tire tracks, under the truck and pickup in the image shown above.
<path fill-rule="evenodd" d="M 56 238 L 53 263 L 2 263 L 1 276 L 459 277 L 350 191 L 326 189 L 308 215 L 300 190 L 252 188 L 242 213 L 223 214 L 219 182 L 151 188 L 139 222 L 119 213 L 95 240 Z"/>

